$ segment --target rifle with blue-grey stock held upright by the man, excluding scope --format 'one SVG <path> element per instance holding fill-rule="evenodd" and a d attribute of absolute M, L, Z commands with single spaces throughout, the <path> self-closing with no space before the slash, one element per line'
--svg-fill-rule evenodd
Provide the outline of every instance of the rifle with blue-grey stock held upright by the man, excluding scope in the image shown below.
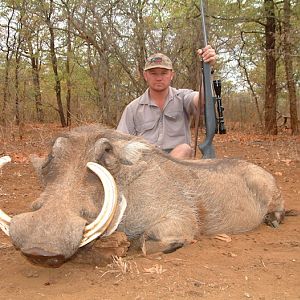
<path fill-rule="evenodd" d="M 203 33 L 203 42 L 204 47 L 207 46 L 207 33 L 206 33 L 206 25 L 205 25 L 205 13 L 204 13 L 204 4 L 203 1 L 200 0 L 200 9 L 201 9 L 201 21 L 202 21 L 202 33 Z M 211 66 L 209 63 L 202 61 L 202 81 L 204 88 L 204 118 L 205 118 L 205 127 L 206 127 L 206 137 L 202 144 L 198 145 L 202 153 L 202 158 L 215 158 L 215 150 L 212 144 L 215 132 L 216 132 L 216 113 L 215 113 L 215 101 L 212 95 L 211 88 Z M 201 90 L 199 93 L 199 100 L 201 97 Z M 200 105 L 200 101 L 199 101 Z M 199 109 L 199 112 L 201 109 Z M 197 130 L 198 131 L 198 130 Z M 197 136 L 195 138 L 195 144 L 197 143 Z"/>

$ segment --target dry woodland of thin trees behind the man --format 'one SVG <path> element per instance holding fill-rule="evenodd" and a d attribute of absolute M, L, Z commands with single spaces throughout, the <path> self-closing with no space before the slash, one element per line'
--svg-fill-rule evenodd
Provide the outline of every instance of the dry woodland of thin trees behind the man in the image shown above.
<path fill-rule="evenodd" d="M 208 3 L 207 3 L 208 2 Z M 173 86 L 198 90 L 203 46 L 194 0 L 1 0 L 0 122 L 116 126 L 141 95 L 145 58 L 174 63 Z M 300 4 L 206 1 L 225 120 L 299 132 Z M 285 121 L 288 121 L 286 124 Z"/>

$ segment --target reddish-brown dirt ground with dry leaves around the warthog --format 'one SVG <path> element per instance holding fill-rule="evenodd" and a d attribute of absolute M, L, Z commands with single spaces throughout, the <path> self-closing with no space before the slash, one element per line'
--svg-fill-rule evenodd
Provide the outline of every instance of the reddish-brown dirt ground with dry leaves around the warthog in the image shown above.
<path fill-rule="evenodd" d="M 26 125 L 20 140 L 17 128 L 2 128 L 0 155 L 13 159 L 0 171 L 0 208 L 9 215 L 28 211 L 38 197 L 28 157 L 46 154 L 59 131 L 58 125 Z M 229 132 L 215 137 L 215 147 L 219 158 L 269 170 L 286 208 L 300 210 L 299 137 Z M 171 254 L 129 253 L 104 267 L 83 258 L 45 268 L 28 262 L 1 232 L 0 299 L 300 299 L 300 216 L 230 238 L 203 236 Z"/>

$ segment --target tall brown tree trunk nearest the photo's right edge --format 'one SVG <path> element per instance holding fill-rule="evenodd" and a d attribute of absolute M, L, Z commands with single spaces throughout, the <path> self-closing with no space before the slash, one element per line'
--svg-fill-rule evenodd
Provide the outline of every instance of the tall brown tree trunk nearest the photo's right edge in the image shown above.
<path fill-rule="evenodd" d="M 283 47 L 284 47 L 284 67 L 286 74 L 286 81 L 290 102 L 290 115 L 291 115 L 291 129 L 292 134 L 298 134 L 298 114 L 297 114 L 297 96 L 296 96 L 296 84 L 294 80 L 293 60 L 292 60 L 292 47 L 290 40 L 291 32 L 291 2 L 290 0 L 284 0 L 284 20 L 283 20 Z"/>

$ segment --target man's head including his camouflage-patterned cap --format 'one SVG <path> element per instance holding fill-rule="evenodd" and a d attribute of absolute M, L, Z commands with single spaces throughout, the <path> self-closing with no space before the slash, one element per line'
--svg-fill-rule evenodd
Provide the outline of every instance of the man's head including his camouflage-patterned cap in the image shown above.
<path fill-rule="evenodd" d="M 144 78 L 150 90 L 156 92 L 167 90 L 173 77 L 173 66 L 169 57 L 162 53 L 148 57 L 144 68 Z"/>

